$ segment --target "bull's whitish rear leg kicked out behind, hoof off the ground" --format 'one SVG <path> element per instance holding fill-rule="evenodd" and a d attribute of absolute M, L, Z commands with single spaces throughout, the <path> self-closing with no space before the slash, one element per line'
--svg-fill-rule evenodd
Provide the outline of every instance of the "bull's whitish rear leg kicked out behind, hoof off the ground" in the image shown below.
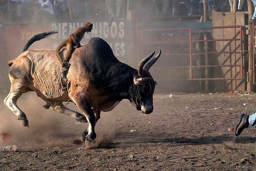
<path fill-rule="evenodd" d="M 29 91 L 30 89 L 22 86 L 19 83 L 12 83 L 8 96 L 4 99 L 4 104 L 18 116 L 19 123 L 23 126 L 29 127 L 29 121 L 24 112 L 22 112 L 17 106 L 17 100 L 21 97 L 21 94 Z"/>

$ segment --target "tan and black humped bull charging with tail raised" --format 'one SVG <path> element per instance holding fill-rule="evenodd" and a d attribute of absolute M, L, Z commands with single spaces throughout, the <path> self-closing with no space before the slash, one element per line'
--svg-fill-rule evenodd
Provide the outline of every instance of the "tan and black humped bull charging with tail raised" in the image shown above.
<path fill-rule="evenodd" d="M 51 107 L 62 114 L 73 116 L 79 122 L 88 122 L 82 134 L 85 145 L 95 142 L 94 128 L 100 119 L 100 112 L 112 110 L 123 99 L 128 99 L 144 114 L 153 112 L 155 81 L 149 69 L 160 57 L 161 50 L 155 57 L 154 52 L 144 58 L 136 70 L 119 61 L 106 41 L 94 37 L 86 45 L 74 50 L 66 75 L 69 80 L 67 89 L 62 89 L 58 76 L 62 68 L 56 51 L 27 50 L 40 39 L 42 33 L 32 37 L 23 53 L 8 63 L 11 85 L 4 104 L 17 115 L 21 125 L 29 127 L 29 122 L 17 106 L 17 100 L 29 91 L 35 92 L 46 102 L 45 108 Z M 65 52 L 66 49 L 62 49 L 62 57 Z M 81 113 L 62 104 L 68 101 L 73 102 Z"/>

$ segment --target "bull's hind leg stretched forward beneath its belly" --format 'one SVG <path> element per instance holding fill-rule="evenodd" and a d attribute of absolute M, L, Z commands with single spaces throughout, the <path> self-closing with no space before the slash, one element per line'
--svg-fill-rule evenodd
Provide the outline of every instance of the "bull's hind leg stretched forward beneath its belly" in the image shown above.
<path fill-rule="evenodd" d="M 74 110 L 66 108 L 66 106 L 64 106 L 62 103 L 57 104 L 52 109 L 56 110 L 56 111 L 58 111 L 58 112 L 60 112 L 62 114 L 66 114 L 68 116 L 72 116 L 72 117 L 76 118 L 79 122 L 87 122 L 87 119 L 85 118 L 85 116 L 83 114 L 80 114 L 79 112 L 76 112 Z"/>

